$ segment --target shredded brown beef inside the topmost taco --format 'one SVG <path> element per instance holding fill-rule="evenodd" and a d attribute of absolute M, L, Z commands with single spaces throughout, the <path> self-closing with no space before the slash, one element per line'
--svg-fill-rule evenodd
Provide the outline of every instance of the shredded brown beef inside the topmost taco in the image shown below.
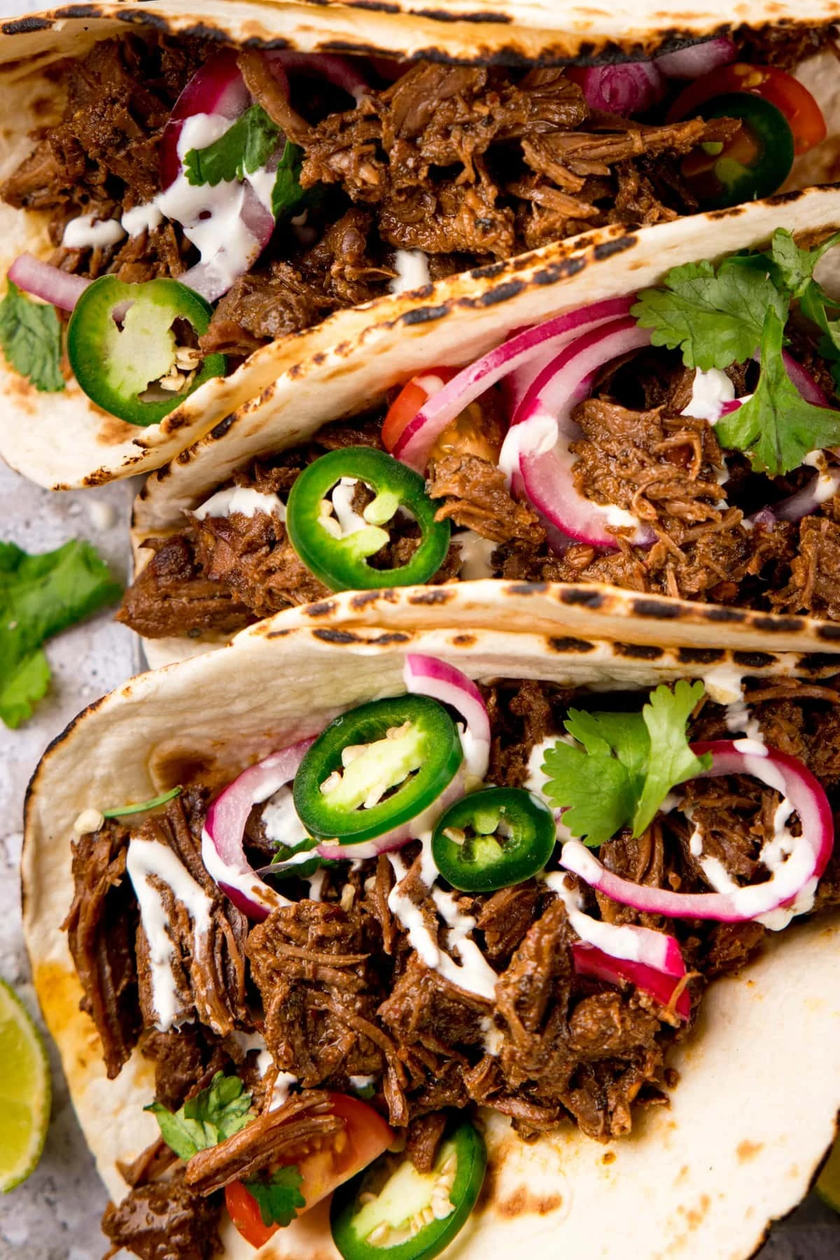
<path fill-rule="evenodd" d="M 57 266 L 141 282 L 198 261 L 171 223 L 108 247 L 71 249 L 62 239 L 79 214 L 117 219 L 160 192 L 162 130 L 213 50 L 200 39 L 132 33 L 68 60 L 62 121 L 1 189 L 10 205 L 48 213 Z M 254 100 L 301 147 L 310 195 L 219 301 L 201 338 L 207 353 L 233 359 L 387 292 L 395 249 L 422 249 L 436 278 L 587 227 L 691 213 L 696 202 L 676 164 L 738 126 L 592 113 L 562 69 L 423 60 L 354 108 L 324 115 L 311 92 L 288 100 L 258 53 L 238 60 Z"/>

